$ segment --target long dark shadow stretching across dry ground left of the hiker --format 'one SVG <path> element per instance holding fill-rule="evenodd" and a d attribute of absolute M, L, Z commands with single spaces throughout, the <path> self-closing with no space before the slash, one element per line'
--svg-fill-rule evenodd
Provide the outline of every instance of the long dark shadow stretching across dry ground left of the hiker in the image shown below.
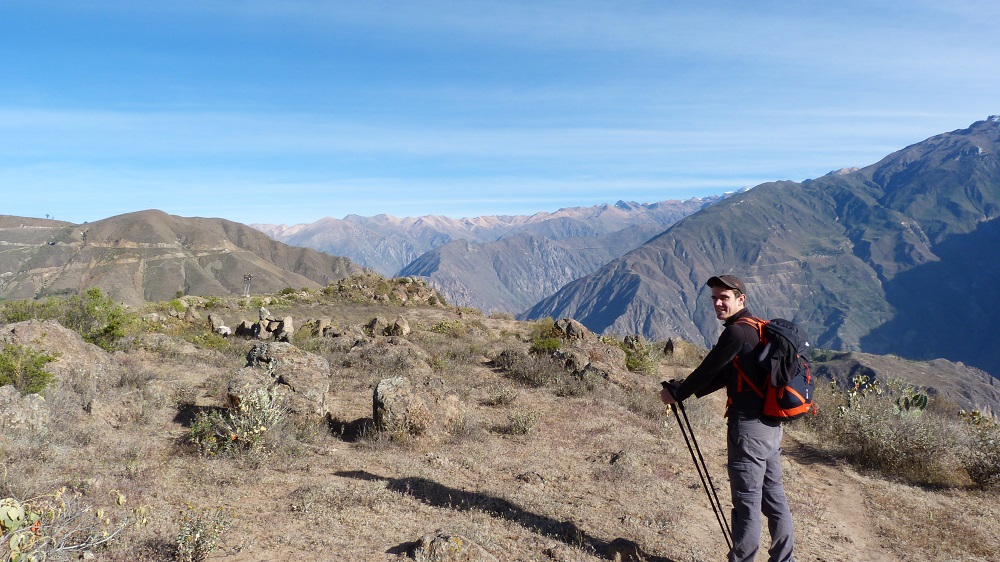
<path fill-rule="evenodd" d="M 539 533 L 570 546 L 582 548 L 595 556 L 622 562 L 674 562 L 670 558 L 654 556 L 642 550 L 636 543 L 622 538 L 611 542 L 593 537 L 571 521 L 559 521 L 545 515 L 526 511 L 517 504 L 482 492 L 469 492 L 444 486 L 426 478 L 387 478 L 361 470 L 336 473 L 343 478 L 386 482 L 392 491 L 416 498 L 434 507 L 459 511 L 478 510 L 521 525 L 534 533 Z M 404 543 L 390 549 L 390 553 L 401 554 L 412 550 L 414 543 Z"/>

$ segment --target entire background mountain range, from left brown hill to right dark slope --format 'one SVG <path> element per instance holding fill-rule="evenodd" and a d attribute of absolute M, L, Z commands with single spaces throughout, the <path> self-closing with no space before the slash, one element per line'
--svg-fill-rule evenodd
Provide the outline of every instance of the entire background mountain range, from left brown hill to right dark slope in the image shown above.
<path fill-rule="evenodd" d="M 996 377 L 998 150 L 1000 117 L 990 117 L 803 182 L 517 217 L 380 215 L 251 228 L 160 211 L 79 225 L 0 216 L 0 299 L 97 286 L 138 305 L 178 293 L 239 294 L 246 274 L 254 292 L 320 287 L 382 263 L 438 283 L 452 304 L 708 346 L 720 326 L 705 280 L 734 273 L 748 285 L 751 310 L 801 323 L 816 347 L 943 358 Z M 340 240 L 367 261 L 265 232 L 295 243 Z"/>

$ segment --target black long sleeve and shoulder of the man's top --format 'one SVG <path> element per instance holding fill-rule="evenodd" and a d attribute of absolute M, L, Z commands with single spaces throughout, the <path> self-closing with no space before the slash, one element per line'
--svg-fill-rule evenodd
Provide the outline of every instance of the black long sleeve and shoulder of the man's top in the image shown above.
<path fill-rule="evenodd" d="M 726 319 L 718 343 L 708 352 L 701 365 L 681 381 L 680 387 L 674 392 L 674 398 L 681 401 L 692 394 L 701 398 L 724 388 L 730 378 L 735 378 L 733 359 L 737 355 L 750 353 L 760 343 L 760 334 L 756 328 L 736 322 L 745 317 L 753 317 L 746 308 Z"/>

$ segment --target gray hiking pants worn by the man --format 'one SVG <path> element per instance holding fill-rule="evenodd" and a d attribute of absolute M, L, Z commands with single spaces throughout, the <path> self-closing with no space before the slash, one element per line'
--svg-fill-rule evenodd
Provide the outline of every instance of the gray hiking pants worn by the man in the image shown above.
<path fill-rule="evenodd" d="M 729 562 L 752 562 L 760 546 L 761 513 L 771 533 L 770 562 L 793 562 L 792 513 L 781 484 L 781 424 L 731 413 L 729 482 L 733 550 Z"/>

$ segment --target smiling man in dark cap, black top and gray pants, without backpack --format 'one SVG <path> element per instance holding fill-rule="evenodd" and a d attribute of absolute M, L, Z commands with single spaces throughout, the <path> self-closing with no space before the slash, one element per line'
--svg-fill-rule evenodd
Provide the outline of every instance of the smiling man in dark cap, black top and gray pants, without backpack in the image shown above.
<path fill-rule="evenodd" d="M 715 316 L 723 321 L 719 341 L 683 381 L 664 383 L 664 404 L 699 398 L 726 387 L 729 482 L 732 490 L 733 549 L 729 562 L 750 562 L 760 542 L 761 513 L 771 533 L 770 562 L 793 561 L 792 514 L 781 483 L 781 423 L 763 418 L 763 399 L 741 392 L 733 359 L 752 361 L 760 343 L 756 318 L 746 308 L 746 287 L 735 275 L 708 280 Z M 755 383 L 756 384 L 756 383 Z"/>

